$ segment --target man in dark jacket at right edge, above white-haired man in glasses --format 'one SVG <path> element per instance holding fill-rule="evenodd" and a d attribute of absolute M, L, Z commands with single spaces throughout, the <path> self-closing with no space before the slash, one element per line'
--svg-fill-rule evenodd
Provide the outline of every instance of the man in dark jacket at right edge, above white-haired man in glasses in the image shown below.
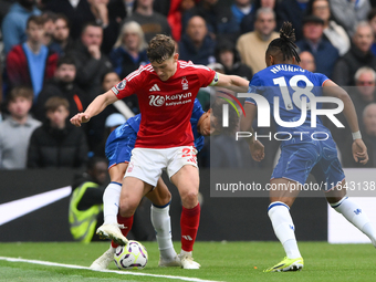
<path fill-rule="evenodd" d="M 355 72 L 362 66 L 376 70 L 376 56 L 370 52 L 374 33 L 367 22 L 356 25 L 353 44 L 349 51 L 336 62 L 333 81 L 341 86 L 354 86 Z"/>

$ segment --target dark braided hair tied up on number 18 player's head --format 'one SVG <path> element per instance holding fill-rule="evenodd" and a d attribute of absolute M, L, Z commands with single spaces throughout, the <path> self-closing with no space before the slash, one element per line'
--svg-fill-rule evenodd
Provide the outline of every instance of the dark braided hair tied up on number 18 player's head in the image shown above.
<path fill-rule="evenodd" d="M 297 54 L 297 46 L 295 45 L 295 30 L 292 28 L 291 22 L 283 22 L 280 29 L 280 38 L 270 42 L 267 54 L 273 56 L 281 56 L 282 61 L 295 58 L 296 63 L 300 63 L 301 59 Z"/>

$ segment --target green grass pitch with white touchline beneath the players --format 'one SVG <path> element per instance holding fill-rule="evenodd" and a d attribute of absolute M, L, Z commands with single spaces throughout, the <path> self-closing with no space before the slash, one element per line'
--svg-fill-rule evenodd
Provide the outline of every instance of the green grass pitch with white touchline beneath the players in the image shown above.
<path fill-rule="evenodd" d="M 158 268 L 156 242 L 143 242 L 149 255 L 144 270 L 135 273 L 176 275 L 213 281 L 376 281 L 376 250 L 372 244 L 299 243 L 304 258 L 300 272 L 263 273 L 283 259 L 278 242 L 197 242 L 195 259 L 200 270 Z M 0 243 L 0 257 L 42 260 L 88 267 L 107 248 L 108 242 L 81 243 Z M 176 248 L 179 242 L 175 243 Z M 111 264 L 112 270 L 117 270 Z M 91 270 L 66 269 L 0 260 L 0 281 L 181 281 L 167 278 L 121 275 Z"/>

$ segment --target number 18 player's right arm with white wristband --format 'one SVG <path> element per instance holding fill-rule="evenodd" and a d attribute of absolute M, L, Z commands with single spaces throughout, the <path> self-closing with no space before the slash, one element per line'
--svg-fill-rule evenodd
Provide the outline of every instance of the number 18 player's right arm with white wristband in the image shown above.
<path fill-rule="evenodd" d="M 362 140 L 357 115 L 352 98 L 344 88 L 340 87 L 333 81 L 326 81 L 324 83 L 324 95 L 341 98 L 344 103 L 344 115 L 354 138 L 352 146 L 353 157 L 356 163 L 359 161 L 365 165 L 368 161 L 367 147 Z"/>

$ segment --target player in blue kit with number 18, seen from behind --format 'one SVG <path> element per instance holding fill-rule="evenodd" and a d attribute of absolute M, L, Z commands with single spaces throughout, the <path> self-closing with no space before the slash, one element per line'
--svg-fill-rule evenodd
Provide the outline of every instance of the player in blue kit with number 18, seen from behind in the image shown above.
<path fill-rule="evenodd" d="M 323 102 L 327 97 L 332 97 L 332 101 L 342 101 L 343 113 L 353 133 L 353 157 L 356 161 L 366 164 L 367 148 L 362 140 L 354 104 L 348 94 L 325 75 L 311 73 L 297 65 L 300 58 L 294 41 L 295 34 L 291 23 L 283 23 L 280 38 L 274 39 L 267 49 L 268 67 L 254 74 L 250 82 L 248 95 L 257 95 L 246 100 L 247 117 L 241 119 L 240 125 L 242 132 L 253 133 L 248 138 L 251 155 L 254 160 L 262 160 L 264 147 L 254 137 L 252 122 L 257 111 L 258 114 L 262 114 L 260 111 L 265 109 L 267 100 L 270 107 L 267 112 L 272 111 L 278 137 L 283 139 L 281 156 L 270 179 L 273 189 L 270 190 L 271 203 L 268 207 L 268 215 L 286 257 L 264 272 L 296 271 L 304 265 L 295 239 L 290 207 L 310 173 L 324 187 L 331 207 L 364 232 L 376 247 L 374 227 L 362 208 L 346 197 L 345 175 L 331 132 L 318 118 L 315 127 L 313 123 L 317 114 L 314 113 L 315 107 L 322 106 L 321 103 L 315 104 L 317 101 Z M 273 111 L 273 107 L 276 108 Z M 305 116 L 305 121 L 301 118 L 302 116 Z M 331 119 L 335 121 L 334 118 Z M 296 126 L 291 127 L 294 123 Z M 354 212 L 357 210 L 362 212 Z"/>

